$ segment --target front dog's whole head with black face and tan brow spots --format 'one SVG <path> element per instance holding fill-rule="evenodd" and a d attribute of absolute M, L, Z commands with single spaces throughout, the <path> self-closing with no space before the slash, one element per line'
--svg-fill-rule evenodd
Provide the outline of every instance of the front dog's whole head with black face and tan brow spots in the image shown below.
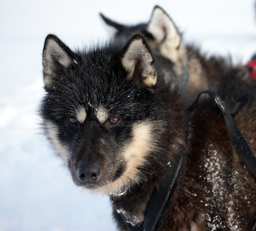
<path fill-rule="evenodd" d="M 164 126 L 152 116 L 161 98 L 144 37 L 73 52 L 50 34 L 43 73 L 44 130 L 76 185 L 119 193 L 143 180 Z"/>

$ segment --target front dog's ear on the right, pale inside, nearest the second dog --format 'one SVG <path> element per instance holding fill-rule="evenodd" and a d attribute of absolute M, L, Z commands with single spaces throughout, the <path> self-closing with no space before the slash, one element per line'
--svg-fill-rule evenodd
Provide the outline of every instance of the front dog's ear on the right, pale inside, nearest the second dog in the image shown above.
<path fill-rule="evenodd" d="M 156 67 L 150 48 L 141 34 L 135 34 L 123 49 L 121 63 L 127 71 L 127 78 L 137 85 L 156 85 Z"/>

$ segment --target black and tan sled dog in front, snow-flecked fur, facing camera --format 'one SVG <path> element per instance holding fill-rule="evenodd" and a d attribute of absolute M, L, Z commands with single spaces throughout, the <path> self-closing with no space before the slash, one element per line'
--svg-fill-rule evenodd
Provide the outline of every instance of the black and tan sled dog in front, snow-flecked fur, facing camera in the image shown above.
<path fill-rule="evenodd" d="M 214 101 L 185 108 L 169 64 L 141 34 L 77 51 L 48 35 L 44 132 L 77 186 L 109 194 L 119 230 L 143 226 L 165 169 L 181 157 L 156 230 L 252 230 L 256 179 Z M 222 74 L 218 93 L 225 101 L 242 96 L 234 120 L 255 154 L 255 88 L 236 84 L 233 72 Z"/>

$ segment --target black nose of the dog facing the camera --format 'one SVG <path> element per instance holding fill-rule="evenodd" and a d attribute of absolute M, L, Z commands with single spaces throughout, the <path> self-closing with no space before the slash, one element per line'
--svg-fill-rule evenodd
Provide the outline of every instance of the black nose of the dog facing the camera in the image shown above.
<path fill-rule="evenodd" d="M 100 164 L 96 162 L 88 162 L 78 164 L 76 167 L 76 173 L 80 181 L 93 182 L 97 181 L 101 171 Z"/>

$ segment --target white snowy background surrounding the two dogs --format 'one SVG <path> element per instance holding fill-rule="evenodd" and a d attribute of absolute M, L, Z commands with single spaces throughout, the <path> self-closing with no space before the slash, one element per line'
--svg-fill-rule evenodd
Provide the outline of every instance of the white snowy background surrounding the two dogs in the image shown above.
<path fill-rule="evenodd" d="M 245 64 L 256 52 L 252 0 L 0 1 L 0 231 L 116 230 L 108 196 L 77 188 L 40 134 L 42 50 L 49 33 L 71 48 L 105 41 L 99 12 L 136 24 L 156 4 L 207 54 Z"/>

